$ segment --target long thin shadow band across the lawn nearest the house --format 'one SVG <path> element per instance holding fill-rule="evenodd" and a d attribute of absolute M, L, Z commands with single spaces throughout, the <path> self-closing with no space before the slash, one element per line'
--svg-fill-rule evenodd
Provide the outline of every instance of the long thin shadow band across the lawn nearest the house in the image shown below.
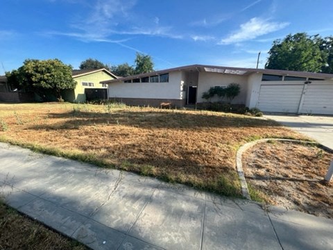
<path fill-rule="evenodd" d="M 244 127 L 280 127 L 278 122 L 241 115 L 224 115 L 211 113 L 185 113 L 173 111 L 128 111 L 112 113 L 94 113 L 72 111 L 69 113 L 51 113 L 50 119 L 67 119 L 52 125 L 37 125 L 31 128 L 44 129 L 78 129 L 79 126 L 97 124 L 134 126 L 137 128 L 244 128 Z"/>

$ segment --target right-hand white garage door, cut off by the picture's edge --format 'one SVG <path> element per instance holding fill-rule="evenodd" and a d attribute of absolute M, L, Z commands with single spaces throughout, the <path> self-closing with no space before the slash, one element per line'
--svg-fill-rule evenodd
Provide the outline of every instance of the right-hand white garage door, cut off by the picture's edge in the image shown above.
<path fill-rule="evenodd" d="M 333 115 L 333 85 L 307 85 L 300 113 Z"/>

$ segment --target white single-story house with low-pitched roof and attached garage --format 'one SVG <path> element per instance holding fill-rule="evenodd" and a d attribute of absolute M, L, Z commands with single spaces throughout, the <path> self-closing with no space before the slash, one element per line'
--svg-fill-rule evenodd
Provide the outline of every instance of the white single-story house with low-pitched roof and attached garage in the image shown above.
<path fill-rule="evenodd" d="M 264 112 L 333 115 L 333 74 L 188 65 L 101 81 L 108 84 L 109 99 L 129 105 L 171 102 L 178 107 L 207 102 L 203 92 L 230 83 L 241 87 L 234 104 Z"/>

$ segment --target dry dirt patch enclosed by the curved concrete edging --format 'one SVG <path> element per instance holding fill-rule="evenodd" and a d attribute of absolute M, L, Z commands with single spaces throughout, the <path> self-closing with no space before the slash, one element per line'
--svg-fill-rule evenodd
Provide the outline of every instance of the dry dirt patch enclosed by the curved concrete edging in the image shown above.
<path fill-rule="evenodd" d="M 264 142 L 244 153 L 246 181 L 267 203 L 333 219 L 332 153 L 293 142 Z"/>

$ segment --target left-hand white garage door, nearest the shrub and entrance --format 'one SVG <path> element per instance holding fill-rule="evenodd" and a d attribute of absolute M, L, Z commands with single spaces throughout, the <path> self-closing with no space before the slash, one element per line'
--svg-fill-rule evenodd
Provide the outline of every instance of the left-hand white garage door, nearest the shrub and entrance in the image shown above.
<path fill-rule="evenodd" d="M 261 85 L 257 108 L 266 112 L 297 113 L 304 85 Z"/>

